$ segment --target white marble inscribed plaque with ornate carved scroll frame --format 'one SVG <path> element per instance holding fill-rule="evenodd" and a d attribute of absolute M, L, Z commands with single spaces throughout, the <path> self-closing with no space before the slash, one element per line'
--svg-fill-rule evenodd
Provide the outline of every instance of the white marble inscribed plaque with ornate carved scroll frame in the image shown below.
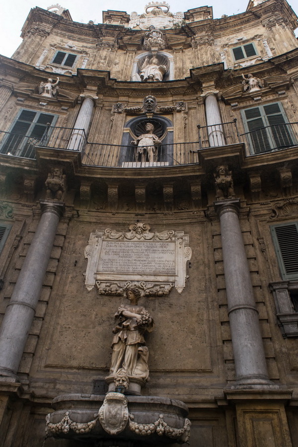
<path fill-rule="evenodd" d="M 123 295 L 135 284 L 144 296 L 168 295 L 173 285 L 185 287 L 186 263 L 191 259 L 188 235 L 183 231 L 150 232 L 136 223 L 128 232 L 109 228 L 90 234 L 84 255 L 88 260 L 85 287 L 103 295 Z"/>

